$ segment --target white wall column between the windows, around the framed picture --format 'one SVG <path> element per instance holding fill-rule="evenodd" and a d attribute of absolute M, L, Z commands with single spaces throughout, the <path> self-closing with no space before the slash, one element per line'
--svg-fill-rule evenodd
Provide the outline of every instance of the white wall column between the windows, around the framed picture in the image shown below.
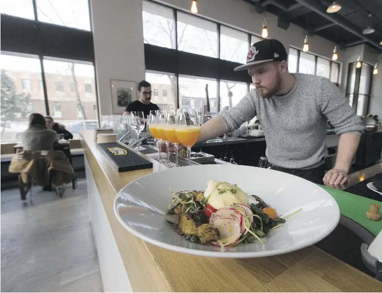
<path fill-rule="evenodd" d="M 101 115 L 112 114 L 110 79 L 145 78 L 141 0 L 91 0 Z"/>

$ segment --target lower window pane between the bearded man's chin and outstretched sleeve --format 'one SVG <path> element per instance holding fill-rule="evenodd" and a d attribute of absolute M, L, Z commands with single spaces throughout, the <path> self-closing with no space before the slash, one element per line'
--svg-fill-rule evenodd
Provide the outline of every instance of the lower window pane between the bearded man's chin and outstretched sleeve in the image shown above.
<path fill-rule="evenodd" d="M 235 107 L 247 93 L 247 83 L 220 80 L 220 110 Z"/>

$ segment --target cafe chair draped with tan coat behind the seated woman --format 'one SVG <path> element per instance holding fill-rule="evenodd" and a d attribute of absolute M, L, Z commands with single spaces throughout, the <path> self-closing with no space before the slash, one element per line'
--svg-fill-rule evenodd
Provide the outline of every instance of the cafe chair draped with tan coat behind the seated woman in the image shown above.
<path fill-rule="evenodd" d="M 66 184 L 73 182 L 75 189 L 75 173 L 73 167 L 62 151 L 21 151 L 17 152 L 9 165 L 10 173 L 18 173 L 21 199 L 32 202 L 33 185 L 52 186 L 56 195 L 64 195 Z M 25 187 L 27 190 L 25 190 Z"/>

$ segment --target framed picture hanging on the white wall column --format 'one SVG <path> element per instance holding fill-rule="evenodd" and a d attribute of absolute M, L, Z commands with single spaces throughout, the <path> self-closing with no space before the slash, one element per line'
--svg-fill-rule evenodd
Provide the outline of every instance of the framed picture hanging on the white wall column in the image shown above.
<path fill-rule="evenodd" d="M 124 113 L 127 105 L 136 100 L 136 82 L 112 79 L 110 88 L 113 114 Z"/>

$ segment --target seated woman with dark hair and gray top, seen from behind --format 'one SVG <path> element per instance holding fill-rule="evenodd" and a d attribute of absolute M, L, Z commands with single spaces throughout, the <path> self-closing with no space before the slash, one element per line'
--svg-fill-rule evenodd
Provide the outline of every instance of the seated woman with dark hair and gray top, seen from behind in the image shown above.
<path fill-rule="evenodd" d="M 29 117 L 29 128 L 21 134 L 23 149 L 26 151 L 50 151 L 57 141 L 57 133 L 47 129 L 45 118 L 38 113 Z"/>

